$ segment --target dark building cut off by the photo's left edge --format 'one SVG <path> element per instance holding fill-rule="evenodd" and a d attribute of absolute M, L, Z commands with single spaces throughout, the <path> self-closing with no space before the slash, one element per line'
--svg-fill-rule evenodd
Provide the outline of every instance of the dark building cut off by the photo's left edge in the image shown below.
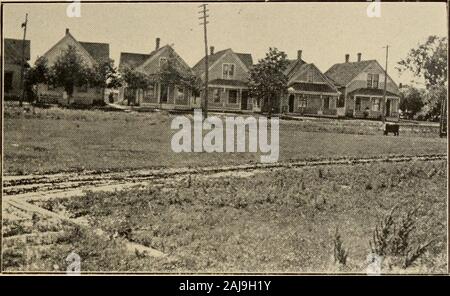
<path fill-rule="evenodd" d="M 4 88 L 3 93 L 5 99 L 18 99 L 22 96 L 23 80 L 22 80 L 22 62 L 27 65 L 30 60 L 30 40 L 21 39 L 4 39 Z M 23 57 L 22 57 L 23 54 Z"/>

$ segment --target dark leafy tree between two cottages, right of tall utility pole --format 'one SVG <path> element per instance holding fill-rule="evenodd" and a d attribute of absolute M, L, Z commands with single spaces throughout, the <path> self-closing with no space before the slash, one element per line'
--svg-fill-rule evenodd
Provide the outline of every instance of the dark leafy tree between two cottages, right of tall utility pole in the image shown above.
<path fill-rule="evenodd" d="M 288 77 L 284 74 L 288 66 L 286 54 L 276 48 L 269 48 L 266 57 L 250 69 L 250 95 L 268 109 L 272 115 L 273 102 L 287 93 Z"/>

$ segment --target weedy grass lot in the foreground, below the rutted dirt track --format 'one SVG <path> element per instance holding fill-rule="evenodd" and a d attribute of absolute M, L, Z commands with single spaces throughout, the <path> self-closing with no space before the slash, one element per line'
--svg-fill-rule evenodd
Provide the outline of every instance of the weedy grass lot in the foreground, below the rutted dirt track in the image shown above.
<path fill-rule="evenodd" d="M 65 270 L 64 259 L 75 251 L 85 271 L 365 273 L 373 231 L 398 206 L 397 230 L 408 221 L 408 211 L 417 210 L 411 232 L 400 240 L 410 251 L 386 255 L 382 271 L 444 273 L 446 184 L 446 161 L 418 161 L 197 176 L 177 186 L 88 192 L 36 204 L 87 221 L 106 235 L 38 217 L 27 224 L 6 221 L 6 237 L 53 231 L 56 238 L 5 248 L 4 268 Z M 336 229 L 348 252 L 345 265 L 334 262 Z M 125 240 L 168 256 L 126 253 Z M 404 268 L 405 258 L 428 242 Z"/>

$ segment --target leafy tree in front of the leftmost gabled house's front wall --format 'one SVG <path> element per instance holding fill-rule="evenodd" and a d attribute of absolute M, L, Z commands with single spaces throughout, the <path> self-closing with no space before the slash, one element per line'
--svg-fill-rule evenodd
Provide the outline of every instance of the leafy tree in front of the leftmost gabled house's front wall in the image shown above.
<path fill-rule="evenodd" d="M 92 78 L 92 69 L 78 54 L 76 48 L 69 45 L 51 67 L 50 76 L 49 83 L 63 87 L 70 104 L 75 86 L 89 84 L 89 80 Z"/>

